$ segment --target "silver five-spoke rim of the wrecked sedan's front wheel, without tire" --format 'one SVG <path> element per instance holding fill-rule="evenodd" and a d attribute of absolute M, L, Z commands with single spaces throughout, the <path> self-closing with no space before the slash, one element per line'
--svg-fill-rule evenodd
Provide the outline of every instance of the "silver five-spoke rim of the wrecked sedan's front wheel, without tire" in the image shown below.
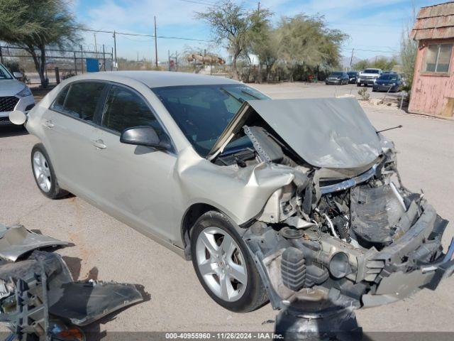
<path fill-rule="evenodd" d="M 248 283 L 243 253 L 233 237 L 218 227 L 206 227 L 196 242 L 196 263 L 211 292 L 224 301 L 238 301 Z"/>

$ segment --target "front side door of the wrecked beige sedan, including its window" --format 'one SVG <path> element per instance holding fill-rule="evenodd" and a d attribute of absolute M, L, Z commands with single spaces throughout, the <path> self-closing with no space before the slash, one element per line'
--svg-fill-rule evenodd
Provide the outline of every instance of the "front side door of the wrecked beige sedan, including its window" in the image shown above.
<path fill-rule="evenodd" d="M 106 148 L 94 158 L 96 193 L 104 210 L 145 234 L 173 242 L 179 227 L 172 225 L 177 158 L 172 151 L 120 143 L 121 132 L 133 126 L 153 126 L 158 136 L 162 124 L 146 99 L 123 85 L 111 85 L 106 97 L 98 140 Z"/>

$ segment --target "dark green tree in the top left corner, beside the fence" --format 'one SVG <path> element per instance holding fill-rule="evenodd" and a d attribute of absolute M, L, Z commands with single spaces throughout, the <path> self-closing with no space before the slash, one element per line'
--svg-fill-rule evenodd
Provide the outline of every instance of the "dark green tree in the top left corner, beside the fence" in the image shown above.
<path fill-rule="evenodd" d="M 0 0 L 0 9 L 0 40 L 31 55 L 41 85 L 46 87 L 46 48 L 73 45 L 79 40 L 82 26 L 67 9 L 65 0 Z"/>

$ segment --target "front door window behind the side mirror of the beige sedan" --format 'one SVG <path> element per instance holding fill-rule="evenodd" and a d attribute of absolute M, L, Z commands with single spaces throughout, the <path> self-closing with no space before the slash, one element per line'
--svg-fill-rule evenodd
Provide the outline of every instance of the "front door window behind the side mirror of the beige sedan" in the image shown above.
<path fill-rule="evenodd" d="M 121 133 L 133 126 L 153 126 L 158 135 L 162 128 L 145 101 L 135 92 L 112 85 L 102 116 L 102 126 Z"/>

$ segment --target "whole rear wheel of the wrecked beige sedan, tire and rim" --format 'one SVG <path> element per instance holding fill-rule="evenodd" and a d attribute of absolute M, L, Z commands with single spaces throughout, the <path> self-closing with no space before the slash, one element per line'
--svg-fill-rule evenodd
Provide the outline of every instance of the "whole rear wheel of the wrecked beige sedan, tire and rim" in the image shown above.
<path fill-rule="evenodd" d="M 58 199 L 68 194 L 58 186 L 54 168 L 43 144 L 35 144 L 31 150 L 31 169 L 36 185 L 43 195 Z"/>

